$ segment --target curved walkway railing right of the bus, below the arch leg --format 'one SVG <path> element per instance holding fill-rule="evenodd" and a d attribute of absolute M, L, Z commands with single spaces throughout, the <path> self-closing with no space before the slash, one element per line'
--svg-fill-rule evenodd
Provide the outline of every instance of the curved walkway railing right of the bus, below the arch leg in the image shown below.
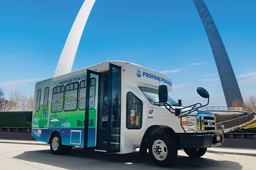
<path fill-rule="evenodd" d="M 253 109 L 250 108 L 245 108 L 245 107 L 203 107 L 203 110 L 207 111 L 220 111 L 220 113 L 223 112 L 243 112 L 245 113 L 244 116 L 241 116 L 239 118 L 234 118 L 230 120 L 226 120 L 224 122 L 219 122 L 217 123 L 217 129 L 218 130 L 223 130 L 223 131 L 228 131 L 233 128 L 243 126 L 246 123 L 251 122 L 251 120 L 254 119 L 254 113 Z"/>

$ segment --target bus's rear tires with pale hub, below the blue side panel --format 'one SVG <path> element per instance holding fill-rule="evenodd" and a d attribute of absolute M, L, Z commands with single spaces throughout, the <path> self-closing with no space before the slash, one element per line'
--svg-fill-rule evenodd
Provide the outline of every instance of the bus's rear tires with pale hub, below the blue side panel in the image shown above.
<path fill-rule="evenodd" d="M 50 148 L 54 155 L 67 154 L 72 150 L 72 146 L 62 145 L 59 133 L 53 133 L 50 138 Z"/>

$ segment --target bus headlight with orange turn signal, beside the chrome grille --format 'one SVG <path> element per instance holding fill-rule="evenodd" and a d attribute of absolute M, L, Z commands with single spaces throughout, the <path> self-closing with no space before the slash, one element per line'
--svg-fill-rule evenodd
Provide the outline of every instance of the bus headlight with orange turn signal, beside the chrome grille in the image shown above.
<path fill-rule="evenodd" d="M 196 133 L 197 132 L 197 117 L 196 116 L 182 116 L 181 126 L 186 133 Z"/>

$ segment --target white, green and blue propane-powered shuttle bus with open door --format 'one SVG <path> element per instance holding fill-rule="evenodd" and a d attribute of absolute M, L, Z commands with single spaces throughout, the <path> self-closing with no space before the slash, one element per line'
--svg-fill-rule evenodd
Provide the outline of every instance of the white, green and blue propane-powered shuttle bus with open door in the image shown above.
<path fill-rule="evenodd" d="M 172 80 L 124 61 L 106 61 L 37 82 L 32 136 L 50 143 L 53 154 L 72 147 L 146 154 L 160 166 L 174 163 L 178 150 L 201 157 L 223 143 L 214 114 L 200 103 L 183 107 L 168 96 Z M 208 92 L 198 93 L 208 99 Z M 208 104 L 207 103 L 207 104 Z M 207 105 L 206 104 L 206 105 Z M 204 105 L 204 106 L 206 106 Z"/>

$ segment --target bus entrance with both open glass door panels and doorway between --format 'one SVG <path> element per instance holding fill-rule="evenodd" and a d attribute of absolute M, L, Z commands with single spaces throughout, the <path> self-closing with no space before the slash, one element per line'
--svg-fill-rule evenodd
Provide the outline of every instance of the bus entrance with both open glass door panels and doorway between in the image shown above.
<path fill-rule="evenodd" d="M 110 63 L 109 71 L 102 74 L 87 70 L 87 87 L 84 150 L 120 152 L 121 67 Z M 91 128 L 90 117 L 95 114 Z"/>

